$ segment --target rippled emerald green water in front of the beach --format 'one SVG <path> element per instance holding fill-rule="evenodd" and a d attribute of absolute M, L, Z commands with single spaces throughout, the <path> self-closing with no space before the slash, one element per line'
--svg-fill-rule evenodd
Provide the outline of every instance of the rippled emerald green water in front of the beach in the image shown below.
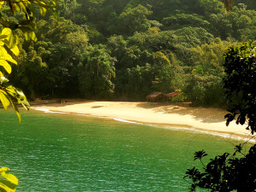
<path fill-rule="evenodd" d="M 19 178 L 18 191 L 188 191 L 195 151 L 233 148 L 224 138 L 110 119 L 30 112 L 19 125 L 15 113 L 0 114 L 0 162 Z"/>

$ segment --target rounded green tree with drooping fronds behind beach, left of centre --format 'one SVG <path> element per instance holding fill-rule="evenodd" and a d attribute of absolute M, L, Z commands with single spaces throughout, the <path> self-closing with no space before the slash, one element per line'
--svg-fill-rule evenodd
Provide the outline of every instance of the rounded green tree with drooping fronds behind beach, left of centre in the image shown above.
<path fill-rule="evenodd" d="M 79 66 L 79 90 L 89 98 L 108 98 L 113 93 L 115 59 L 106 46 L 97 44 L 84 53 Z"/>

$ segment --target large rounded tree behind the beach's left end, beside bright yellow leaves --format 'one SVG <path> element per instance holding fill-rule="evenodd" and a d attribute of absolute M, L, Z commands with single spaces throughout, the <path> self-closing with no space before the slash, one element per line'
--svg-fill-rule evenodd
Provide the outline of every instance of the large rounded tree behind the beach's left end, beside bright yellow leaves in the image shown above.
<path fill-rule="evenodd" d="M 83 61 L 83 54 L 89 47 L 87 32 L 71 20 L 49 17 L 49 21 L 38 21 L 38 41 L 33 44 L 37 56 L 42 58 L 44 67 L 34 73 L 39 86 L 26 92 L 32 98 L 36 96 L 79 96 L 78 66 Z M 26 52 L 30 47 L 23 44 Z M 29 61 L 22 61 L 20 71 L 32 71 Z M 29 73 L 22 73 L 23 79 L 31 79 Z M 42 75 L 40 75 L 42 74 Z M 43 75 L 44 74 L 44 75 Z M 32 77 L 34 78 L 34 77 Z M 28 81 L 29 82 L 29 81 Z M 19 82 L 20 83 L 20 82 Z M 22 85 L 24 86 L 23 82 Z M 34 92 L 34 95 L 31 93 Z"/>

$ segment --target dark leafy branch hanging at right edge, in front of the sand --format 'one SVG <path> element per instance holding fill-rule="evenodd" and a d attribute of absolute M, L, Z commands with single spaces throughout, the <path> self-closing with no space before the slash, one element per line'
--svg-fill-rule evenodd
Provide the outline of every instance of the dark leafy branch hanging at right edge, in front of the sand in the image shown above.
<path fill-rule="evenodd" d="M 249 42 L 230 48 L 225 55 L 224 88 L 230 102 L 226 125 L 236 119 L 237 125 L 247 125 L 256 131 L 256 44 Z"/>

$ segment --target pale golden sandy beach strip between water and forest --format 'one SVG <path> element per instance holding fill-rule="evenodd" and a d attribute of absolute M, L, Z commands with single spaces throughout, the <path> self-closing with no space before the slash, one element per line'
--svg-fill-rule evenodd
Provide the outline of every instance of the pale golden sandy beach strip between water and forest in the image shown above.
<path fill-rule="evenodd" d="M 236 125 L 235 121 L 227 127 L 224 114 L 219 108 L 190 108 L 188 105 L 171 105 L 153 102 L 94 102 L 66 101 L 65 103 L 47 103 L 32 105 L 32 109 L 62 113 L 80 113 L 92 116 L 108 117 L 158 124 L 165 127 L 189 128 L 197 131 L 224 134 L 225 137 L 249 138 L 246 125 Z"/>

